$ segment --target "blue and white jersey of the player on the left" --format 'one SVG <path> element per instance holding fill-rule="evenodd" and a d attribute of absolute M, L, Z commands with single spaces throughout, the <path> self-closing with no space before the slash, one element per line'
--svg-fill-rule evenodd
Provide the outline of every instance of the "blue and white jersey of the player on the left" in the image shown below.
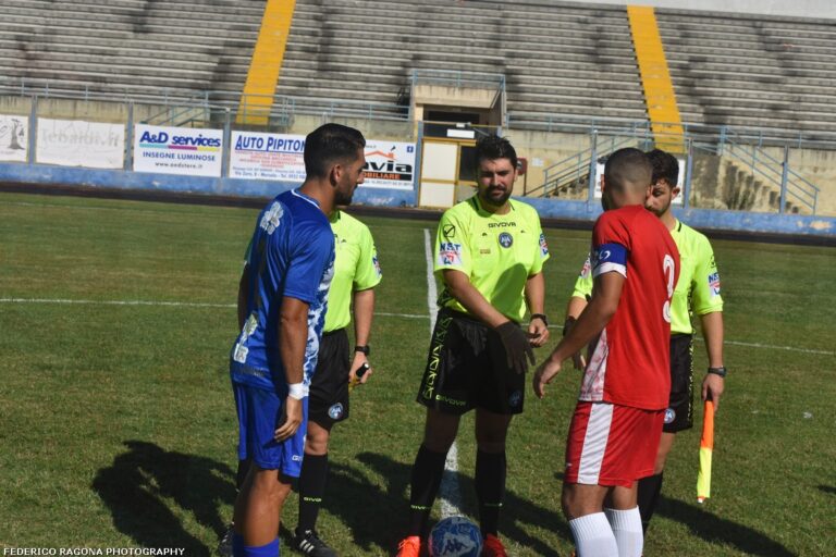
<path fill-rule="evenodd" d="M 247 318 L 232 347 L 233 383 L 272 388 L 284 397 L 287 381 L 279 350 L 282 298 L 309 305 L 305 385 L 317 366 L 319 341 L 334 270 L 334 235 L 318 203 L 294 189 L 258 215 L 247 253 Z"/>

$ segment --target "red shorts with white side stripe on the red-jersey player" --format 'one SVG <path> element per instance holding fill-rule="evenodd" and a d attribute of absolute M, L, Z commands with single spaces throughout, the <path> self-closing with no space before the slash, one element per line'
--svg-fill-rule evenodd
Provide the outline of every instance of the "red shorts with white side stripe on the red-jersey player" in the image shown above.
<path fill-rule="evenodd" d="M 630 487 L 652 475 L 664 413 L 578 401 L 566 441 L 564 481 Z"/>

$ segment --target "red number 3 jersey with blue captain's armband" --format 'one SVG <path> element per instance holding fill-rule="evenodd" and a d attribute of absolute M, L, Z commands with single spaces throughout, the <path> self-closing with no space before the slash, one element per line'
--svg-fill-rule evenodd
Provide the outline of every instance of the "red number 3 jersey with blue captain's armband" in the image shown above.
<path fill-rule="evenodd" d="M 604 212 L 592 231 L 592 276 L 625 276 L 615 314 L 589 359 L 580 400 L 644 410 L 671 394 L 671 296 L 679 251 L 664 224 L 641 206 Z M 594 296 L 594 294 L 593 294 Z"/>

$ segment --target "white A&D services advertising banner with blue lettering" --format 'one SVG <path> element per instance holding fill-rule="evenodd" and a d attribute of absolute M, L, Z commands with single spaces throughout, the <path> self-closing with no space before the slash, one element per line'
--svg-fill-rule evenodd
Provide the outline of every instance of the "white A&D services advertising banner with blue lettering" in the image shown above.
<path fill-rule="evenodd" d="M 134 171 L 220 177 L 223 131 L 137 124 Z"/>

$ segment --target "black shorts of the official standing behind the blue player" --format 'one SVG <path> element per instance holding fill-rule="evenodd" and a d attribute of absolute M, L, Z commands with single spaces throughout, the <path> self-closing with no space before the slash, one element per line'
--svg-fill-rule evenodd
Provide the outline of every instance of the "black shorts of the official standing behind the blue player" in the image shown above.
<path fill-rule="evenodd" d="M 348 418 L 348 334 L 339 329 L 322 335 L 317 369 L 310 380 L 308 420 L 323 428 Z"/>

